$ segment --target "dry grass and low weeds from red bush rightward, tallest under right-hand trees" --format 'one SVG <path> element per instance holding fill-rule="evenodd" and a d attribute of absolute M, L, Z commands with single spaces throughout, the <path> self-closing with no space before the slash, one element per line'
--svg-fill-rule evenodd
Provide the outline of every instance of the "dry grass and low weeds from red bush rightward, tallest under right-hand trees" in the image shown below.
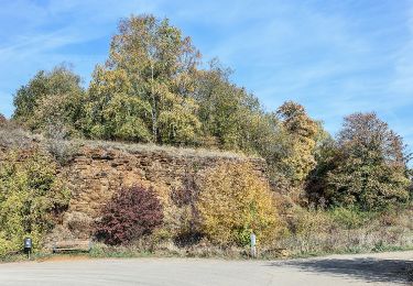
<path fill-rule="evenodd" d="M 306 257 L 332 253 L 368 253 L 413 250 L 413 210 L 378 215 L 357 228 L 337 224 L 327 211 L 306 211 L 301 216 L 301 229 L 291 228 L 284 238 L 273 244 L 258 245 L 258 258 Z M 384 226 L 384 217 L 391 216 L 392 224 Z M 328 222 L 329 221 L 329 222 Z M 291 227 L 291 226 L 290 226 Z M 294 232 L 295 231 L 295 232 Z M 178 246 L 172 240 L 153 240 L 148 237 L 129 246 L 97 244 L 93 256 L 132 257 L 141 255 L 180 257 L 249 258 L 249 248 L 219 246 L 207 239 Z M 413 275 L 413 270 L 411 270 Z"/>

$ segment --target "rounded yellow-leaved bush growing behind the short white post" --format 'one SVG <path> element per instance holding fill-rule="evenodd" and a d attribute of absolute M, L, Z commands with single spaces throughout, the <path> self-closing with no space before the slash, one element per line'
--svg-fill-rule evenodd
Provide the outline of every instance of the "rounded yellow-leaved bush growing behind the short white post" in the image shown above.
<path fill-rule="evenodd" d="M 248 163 L 222 164 L 208 172 L 197 209 L 202 231 L 218 244 L 246 245 L 251 232 L 265 243 L 280 229 L 268 183 Z"/>

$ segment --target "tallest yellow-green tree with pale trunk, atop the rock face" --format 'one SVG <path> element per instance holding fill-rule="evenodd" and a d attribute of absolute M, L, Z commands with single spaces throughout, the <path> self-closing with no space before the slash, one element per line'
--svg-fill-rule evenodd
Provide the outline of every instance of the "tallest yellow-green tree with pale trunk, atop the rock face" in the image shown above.
<path fill-rule="evenodd" d="M 199 53 L 167 19 L 120 21 L 109 58 L 89 88 L 86 133 L 91 138 L 195 144 L 194 73 Z"/>

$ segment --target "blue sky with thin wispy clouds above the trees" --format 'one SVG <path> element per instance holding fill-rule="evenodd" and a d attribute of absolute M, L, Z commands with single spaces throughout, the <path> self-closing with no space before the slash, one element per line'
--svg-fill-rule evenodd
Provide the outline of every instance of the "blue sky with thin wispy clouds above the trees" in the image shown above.
<path fill-rule="evenodd" d="M 377 111 L 413 146 L 411 0 L 0 0 L 0 112 L 63 62 L 87 85 L 132 13 L 171 19 L 268 110 L 296 100 L 333 134 L 344 116 Z"/>

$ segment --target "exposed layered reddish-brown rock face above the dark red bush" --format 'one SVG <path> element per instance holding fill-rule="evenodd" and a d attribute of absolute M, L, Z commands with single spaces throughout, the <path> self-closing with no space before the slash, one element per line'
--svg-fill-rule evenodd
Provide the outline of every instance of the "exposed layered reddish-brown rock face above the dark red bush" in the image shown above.
<path fill-rule="evenodd" d="M 119 188 L 142 184 L 172 194 L 183 187 L 188 176 L 202 180 L 203 172 L 217 164 L 246 161 L 265 178 L 265 163 L 261 158 L 148 145 L 85 144 L 72 163 L 61 169 L 59 176 L 73 193 L 63 226 L 75 237 L 88 237 L 102 207 Z"/>

